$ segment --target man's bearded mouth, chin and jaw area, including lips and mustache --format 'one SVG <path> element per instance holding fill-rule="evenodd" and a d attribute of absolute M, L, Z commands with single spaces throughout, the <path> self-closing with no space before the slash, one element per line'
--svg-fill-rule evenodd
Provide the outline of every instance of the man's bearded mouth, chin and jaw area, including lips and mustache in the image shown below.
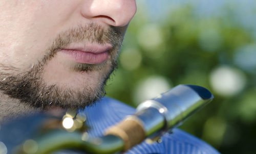
<path fill-rule="evenodd" d="M 105 94 L 121 42 L 117 29 L 102 30 L 94 24 L 62 32 L 43 58 L 26 62 L 26 69 L 0 64 L 0 90 L 44 110 L 92 105 Z"/>

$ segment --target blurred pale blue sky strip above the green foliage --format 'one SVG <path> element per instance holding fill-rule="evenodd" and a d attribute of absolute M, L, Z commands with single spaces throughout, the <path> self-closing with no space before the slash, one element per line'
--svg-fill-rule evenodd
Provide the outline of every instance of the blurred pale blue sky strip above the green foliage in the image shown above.
<path fill-rule="evenodd" d="M 251 16 L 252 11 L 256 11 L 255 0 L 138 0 L 137 2 L 144 2 L 148 6 L 148 13 L 154 20 L 161 20 L 172 7 L 188 2 L 196 6 L 202 15 L 219 15 L 221 6 L 233 5 L 238 7 L 238 15 L 243 16 L 241 18 L 245 18 L 247 21 L 256 21 L 256 17 Z"/>

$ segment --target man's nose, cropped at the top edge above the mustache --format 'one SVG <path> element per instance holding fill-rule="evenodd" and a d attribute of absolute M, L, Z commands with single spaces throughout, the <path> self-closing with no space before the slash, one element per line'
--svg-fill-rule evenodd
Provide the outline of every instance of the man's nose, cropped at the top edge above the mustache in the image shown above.
<path fill-rule="evenodd" d="M 86 0 L 81 14 L 90 20 L 123 27 L 131 21 L 136 9 L 135 0 Z"/>

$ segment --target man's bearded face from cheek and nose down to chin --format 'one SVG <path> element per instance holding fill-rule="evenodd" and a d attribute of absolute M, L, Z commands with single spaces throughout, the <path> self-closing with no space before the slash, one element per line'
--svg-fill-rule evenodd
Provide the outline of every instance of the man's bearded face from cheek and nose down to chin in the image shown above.
<path fill-rule="evenodd" d="M 0 90 L 42 109 L 104 94 L 135 0 L 0 1 Z"/>

